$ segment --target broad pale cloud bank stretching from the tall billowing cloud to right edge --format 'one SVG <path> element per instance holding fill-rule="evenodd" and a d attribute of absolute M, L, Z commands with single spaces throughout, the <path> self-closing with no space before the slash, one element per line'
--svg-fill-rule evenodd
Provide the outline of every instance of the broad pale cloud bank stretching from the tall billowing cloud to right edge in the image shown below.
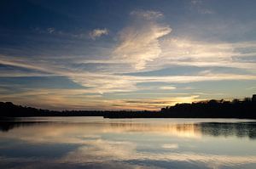
<path fill-rule="evenodd" d="M 253 51 L 255 42 L 204 42 L 170 37 L 161 42 L 161 47 L 162 53 L 154 62 L 156 67 L 192 65 L 255 70 L 256 66 L 255 62 L 247 61 L 247 57 L 256 55 Z"/>

